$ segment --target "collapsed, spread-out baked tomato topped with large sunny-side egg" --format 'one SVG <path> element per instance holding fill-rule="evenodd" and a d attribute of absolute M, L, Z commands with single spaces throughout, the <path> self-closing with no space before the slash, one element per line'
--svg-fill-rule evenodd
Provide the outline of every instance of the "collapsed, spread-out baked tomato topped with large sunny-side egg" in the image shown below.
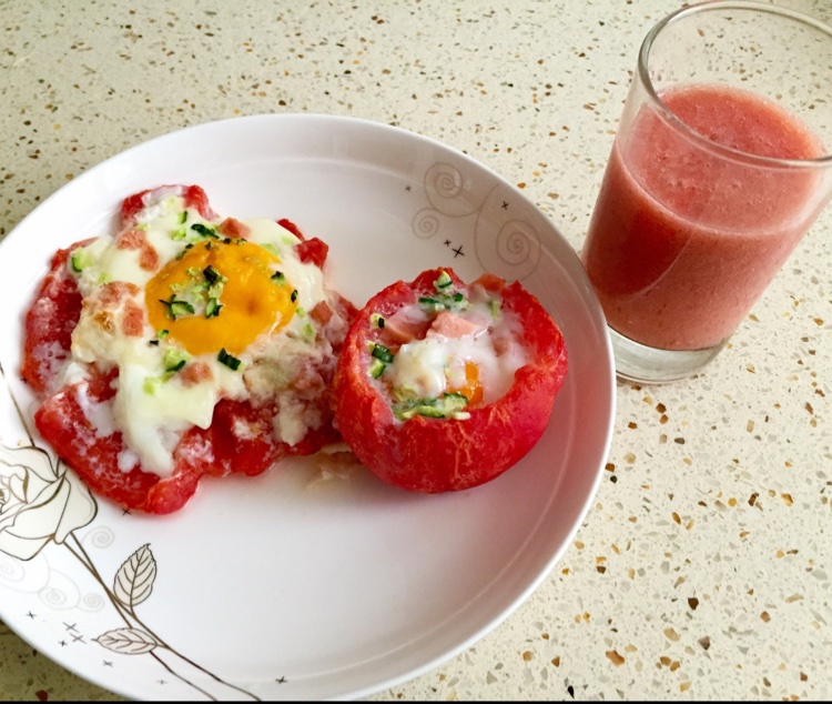
<path fill-rule="evenodd" d="M 203 476 L 339 441 L 331 381 L 354 306 L 288 220 L 223 218 L 197 185 L 126 198 L 59 250 L 26 320 L 41 436 L 90 489 L 152 514 Z"/>

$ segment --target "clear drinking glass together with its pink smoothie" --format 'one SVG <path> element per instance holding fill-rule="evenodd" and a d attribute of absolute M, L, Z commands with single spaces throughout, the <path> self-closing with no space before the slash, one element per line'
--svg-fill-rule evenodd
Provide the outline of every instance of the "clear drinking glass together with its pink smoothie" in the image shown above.
<path fill-rule="evenodd" d="M 704 368 L 832 197 L 832 28 L 708 1 L 645 38 L 581 261 L 616 371 Z"/>

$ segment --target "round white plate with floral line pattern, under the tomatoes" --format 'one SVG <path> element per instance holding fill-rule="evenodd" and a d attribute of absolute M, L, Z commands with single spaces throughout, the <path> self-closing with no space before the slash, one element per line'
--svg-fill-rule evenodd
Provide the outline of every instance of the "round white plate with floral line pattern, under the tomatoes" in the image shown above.
<path fill-rule="evenodd" d="M 434 266 L 520 279 L 569 352 L 539 444 L 456 494 L 412 495 L 363 470 L 316 483 L 292 461 L 256 479 L 204 480 L 170 516 L 90 497 L 21 422 L 31 428 L 17 373 L 22 316 L 58 247 L 101 234 L 125 195 L 162 183 L 200 184 L 221 214 L 288 218 L 321 237 L 334 285 L 357 305 Z M 132 698 L 356 698 L 437 666 L 546 579 L 609 450 L 612 356 L 574 250 L 498 175 L 396 128 L 260 115 L 128 150 L 6 238 L 0 301 L 0 617 Z M 9 450 L 32 443 L 42 450 Z M 22 467 L 28 503 L 10 493 Z"/>

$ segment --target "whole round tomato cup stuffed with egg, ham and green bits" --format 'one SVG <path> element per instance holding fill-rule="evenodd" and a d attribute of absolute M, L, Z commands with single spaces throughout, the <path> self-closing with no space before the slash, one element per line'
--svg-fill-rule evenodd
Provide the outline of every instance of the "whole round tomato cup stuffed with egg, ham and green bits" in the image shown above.
<path fill-rule="evenodd" d="M 470 489 L 538 442 L 566 372 L 560 330 L 518 282 L 428 270 L 356 316 L 335 371 L 335 424 L 388 484 Z"/>

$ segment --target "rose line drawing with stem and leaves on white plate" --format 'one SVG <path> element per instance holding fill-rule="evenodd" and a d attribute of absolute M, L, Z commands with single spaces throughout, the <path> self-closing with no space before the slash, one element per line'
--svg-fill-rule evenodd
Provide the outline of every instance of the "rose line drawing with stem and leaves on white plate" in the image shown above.
<path fill-rule="evenodd" d="M 150 544 L 140 546 L 116 571 L 112 587 L 93 564 L 74 531 L 90 525 L 98 515 L 98 503 L 84 484 L 60 459 L 39 447 L 20 405 L 11 393 L 0 363 L 0 409 L 12 410 L 26 434 L 14 444 L 0 438 L 0 552 L 29 561 L 50 544 L 68 550 L 103 590 L 124 625 L 93 638 L 100 646 L 122 655 L 149 655 L 171 676 L 217 701 L 204 685 L 186 676 L 165 655 L 196 673 L 206 675 L 223 688 L 261 701 L 258 696 L 225 682 L 168 644 L 140 617 L 136 607 L 153 593 L 158 565 Z M 222 698 L 227 698 L 229 693 Z"/>

